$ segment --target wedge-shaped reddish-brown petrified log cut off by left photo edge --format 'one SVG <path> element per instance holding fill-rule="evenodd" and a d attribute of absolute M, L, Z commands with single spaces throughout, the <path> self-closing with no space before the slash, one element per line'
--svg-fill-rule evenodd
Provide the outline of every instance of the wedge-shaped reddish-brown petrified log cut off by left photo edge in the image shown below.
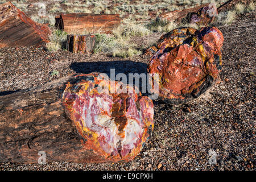
<path fill-rule="evenodd" d="M 12 3 L 0 5 L 0 48 L 39 46 L 49 42 L 49 34 L 47 24 L 35 23 Z"/>

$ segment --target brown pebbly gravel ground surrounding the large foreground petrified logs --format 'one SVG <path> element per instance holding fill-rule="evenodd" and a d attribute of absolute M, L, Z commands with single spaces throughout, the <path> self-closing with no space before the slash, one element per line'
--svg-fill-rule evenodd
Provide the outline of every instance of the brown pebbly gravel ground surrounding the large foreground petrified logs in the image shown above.
<path fill-rule="evenodd" d="M 0 163 L 0 170 L 255 170 L 255 15 L 240 18 L 220 30 L 225 38 L 220 81 L 185 105 L 155 102 L 152 138 L 133 161 L 52 162 L 42 166 Z M 98 61 L 107 62 L 90 63 Z M 143 56 L 129 60 L 67 51 L 53 54 L 34 47 L 3 48 L 0 94 L 42 85 L 75 72 L 110 67 L 118 72 L 144 72 L 147 61 L 148 57 Z M 51 76 L 54 70 L 59 75 Z M 209 164 L 209 151 L 216 152 L 217 164 Z"/>

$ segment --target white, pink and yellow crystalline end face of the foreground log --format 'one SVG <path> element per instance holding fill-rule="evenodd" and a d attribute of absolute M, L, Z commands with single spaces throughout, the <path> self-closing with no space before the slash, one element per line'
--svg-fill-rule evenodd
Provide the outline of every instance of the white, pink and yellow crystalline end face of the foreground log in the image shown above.
<path fill-rule="evenodd" d="M 154 128 L 152 101 L 99 73 L 77 75 L 68 82 L 63 102 L 84 139 L 82 145 L 108 161 L 134 159 Z"/>

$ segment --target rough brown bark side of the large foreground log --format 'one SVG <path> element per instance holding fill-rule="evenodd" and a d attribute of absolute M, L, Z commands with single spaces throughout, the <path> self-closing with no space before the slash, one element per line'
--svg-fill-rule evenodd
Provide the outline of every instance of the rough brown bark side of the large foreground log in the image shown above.
<path fill-rule="evenodd" d="M 47 162 L 106 162 L 85 150 L 60 104 L 69 78 L 0 96 L 0 162 L 37 163 L 39 151 L 46 152 Z"/>

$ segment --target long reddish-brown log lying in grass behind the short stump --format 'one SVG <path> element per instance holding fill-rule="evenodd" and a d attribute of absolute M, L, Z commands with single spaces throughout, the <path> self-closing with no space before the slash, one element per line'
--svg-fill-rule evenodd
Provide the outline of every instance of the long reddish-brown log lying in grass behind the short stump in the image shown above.
<path fill-rule="evenodd" d="M 84 34 L 85 31 L 112 32 L 121 22 L 119 14 L 70 13 L 55 17 L 55 26 L 70 34 Z"/>

